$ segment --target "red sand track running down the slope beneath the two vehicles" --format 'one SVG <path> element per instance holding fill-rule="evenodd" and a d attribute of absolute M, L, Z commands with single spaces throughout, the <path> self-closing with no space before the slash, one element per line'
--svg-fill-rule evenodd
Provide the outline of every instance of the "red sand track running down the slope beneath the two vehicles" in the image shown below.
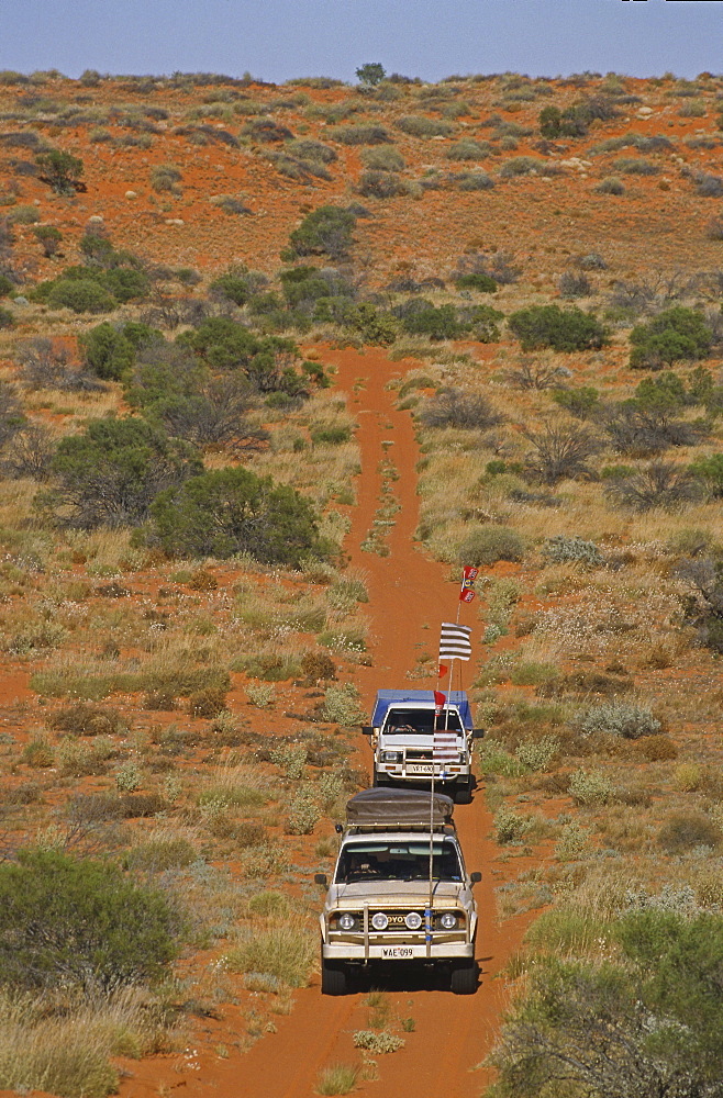
<path fill-rule="evenodd" d="M 329 357 L 338 367 L 337 384 L 349 394 L 351 410 L 359 421 L 362 477 L 357 484 L 358 503 L 346 541 L 352 562 L 368 575 L 371 618 L 370 651 L 374 665 L 359 668 L 355 674 L 368 706 L 378 687 L 409 682 L 410 671 L 420 652 L 436 656 L 440 623 L 456 613 L 457 586 L 449 582 L 448 569 L 426 557 L 414 542 L 419 502 L 415 462 L 419 450 L 411 416 L 393 410 L 393 393 L 386 383 L 398 369 L 382 351 L 335 351 Z M 354 393 L 357 381 L 364 381 Z M 383 442 L 392 441 L 383 447 Z M 385 453 L 400 477 L 393 485 L 401 504 L 396 525 L 387 539 L 390 553 L 380 557 L 358 547 L 368 533 L 380 503 L 379 462 Z M 468 608 L 469 624 L 476 615 Z M 477 626 L 476 632 L 479 632 Z M 470 675 L 467 675 L 469 679 Z M 426 680 L 424 685 L 430 685 Z M 362 740 L 362 737 L 359 737 Z M 359 758 L 369 765 L 366 742 L 359 743 Z M 480 912 L 477 938 L 480 985 L 474 996 L 454 996 L 422 983 L 413 990 L 389 989 L 397 1018 L 412 1018 L 414 1032 L 405 1033 L 405 1047 L 378 1057 L 378 1078 L 360 1082 L 362 1094 L 378 1098 L 476 1098 L 488 1079 L 485 1069 L 474 1071 L 490 1050 L 504 1002 L 504 982 L 494 979 L 518 948 L 530 917 L 510 920 L 500 931 L 494 917 L 493 884 L 489 867 L 494 844 L 488 838 L 491 818 L 481 789 L 472 805 L 457 809 L 458 828 L 469 870 L 482 870 L 477 886 Z M 320 896 L 321 899 L 321 896 Z M 257 1041 L 253 1049 L 227 1061 L 202 1051 L 183 1056 L 162 1057 L 142 1063 L 127 1062 L 131 1078 L 121 1088 L 123 1098 L 151 1098 L 182 1088 L 182 1094 L 215 1095 L 219 1098 L 311 1098 L 319 1073 L 334 1063 L 358 1063 L 353 1033 L 368 1028 L 365 994 L 342 998 L 322 997 L 319 977 L 297 993 L 289 1017 L 275 1020 L 277 1032 Z"/>

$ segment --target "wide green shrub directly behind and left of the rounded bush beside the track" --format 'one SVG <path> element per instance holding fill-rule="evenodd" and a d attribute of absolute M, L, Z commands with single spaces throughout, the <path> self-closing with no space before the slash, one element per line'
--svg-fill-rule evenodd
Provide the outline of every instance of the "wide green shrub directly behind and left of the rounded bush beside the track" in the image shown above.
<path fill-rule="evenodd" d="M 71 526 L 137 526 L 158 493 L 198 473 L 196 451 L 142 419 L 91 419 L 60 440 L 56 486 L 38 498 Z"/>

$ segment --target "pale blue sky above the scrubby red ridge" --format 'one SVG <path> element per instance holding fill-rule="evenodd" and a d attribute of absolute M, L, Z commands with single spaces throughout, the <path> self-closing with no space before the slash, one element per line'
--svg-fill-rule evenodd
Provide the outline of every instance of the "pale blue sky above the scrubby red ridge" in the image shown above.
<path fill-rule="evenodd" d="M 0 0 L 0 69 L 723 72 L 723 0 Z"/>

